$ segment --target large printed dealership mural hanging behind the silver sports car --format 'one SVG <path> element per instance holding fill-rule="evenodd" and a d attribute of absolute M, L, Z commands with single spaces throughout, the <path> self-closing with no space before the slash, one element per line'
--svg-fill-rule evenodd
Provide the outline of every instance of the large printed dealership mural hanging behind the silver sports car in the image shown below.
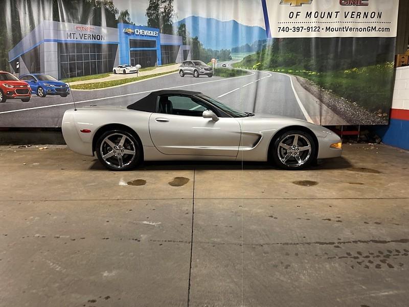
<path fill-rule="evenodd" d="M 322 125 L 388 124 L 398 0 L 4 0 L 0 127 L 159 89 Z"/>

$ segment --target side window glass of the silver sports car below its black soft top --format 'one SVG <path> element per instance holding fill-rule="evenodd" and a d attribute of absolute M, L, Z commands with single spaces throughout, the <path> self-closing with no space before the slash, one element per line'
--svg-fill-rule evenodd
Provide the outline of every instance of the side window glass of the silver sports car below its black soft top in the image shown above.
<path fill-rule="evenodd" d="M 200 101 L 185 96 L 161 96 L 159 99 L 159 113 L 202 116 L 203 111 L 209 109 Z"/>

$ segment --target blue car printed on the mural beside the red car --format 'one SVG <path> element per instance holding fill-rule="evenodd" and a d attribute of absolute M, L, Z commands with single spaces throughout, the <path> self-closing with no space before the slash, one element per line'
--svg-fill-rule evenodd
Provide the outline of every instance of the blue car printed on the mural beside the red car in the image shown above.
<path fill-rule="evenodd" d="M 67 97 L 70 95 L 70 86 L 50 75 L 28 74 L 21 76 L 20 80 L 29 83 L 32 93 L 39 97 L 46 97 L 47 95 Z"/>

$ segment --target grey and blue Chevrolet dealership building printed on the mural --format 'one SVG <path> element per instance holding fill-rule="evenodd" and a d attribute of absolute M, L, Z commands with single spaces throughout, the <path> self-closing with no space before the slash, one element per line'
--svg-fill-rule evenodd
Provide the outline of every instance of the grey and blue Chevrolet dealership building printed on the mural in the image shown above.
<path fill-rule="evenodd" d="M 191 59 L 181 36 L 118 24 L 97 27 L 44 20 L 9 52 L 15 73 L 58 79 L 108 73 L 121 64 L 153 67 Z"/>

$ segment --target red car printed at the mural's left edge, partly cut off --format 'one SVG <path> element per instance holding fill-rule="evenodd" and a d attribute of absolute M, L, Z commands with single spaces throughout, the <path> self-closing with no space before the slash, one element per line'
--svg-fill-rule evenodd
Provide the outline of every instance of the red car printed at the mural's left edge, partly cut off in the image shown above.
<path fill-rule="evenodd" d="M 7 99 L 21 99 L 23 102 L 30 101 L 31 87 L 8 72 L 0 71 L 0 102 Z"/>

